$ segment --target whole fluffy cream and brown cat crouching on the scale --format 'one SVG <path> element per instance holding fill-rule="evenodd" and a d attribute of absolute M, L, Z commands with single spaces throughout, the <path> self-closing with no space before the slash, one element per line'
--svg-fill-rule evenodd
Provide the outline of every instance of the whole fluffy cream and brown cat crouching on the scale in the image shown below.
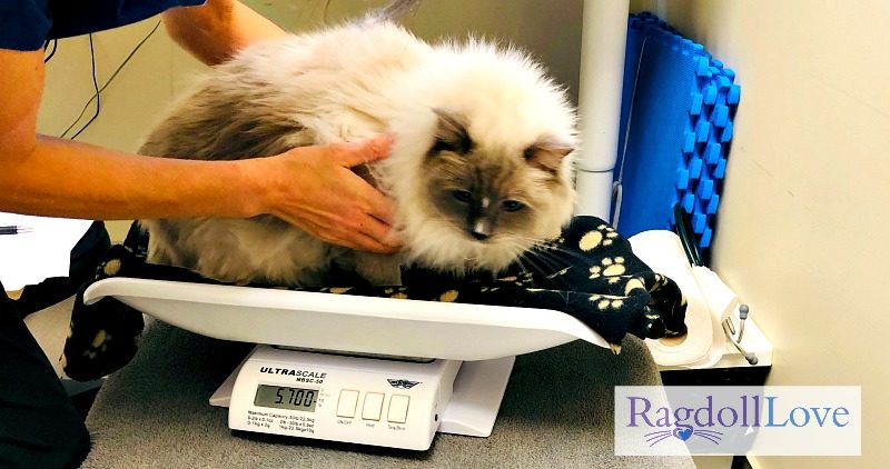
<path fill-rule="evenodd" d="M 250 47 L 216 68 L 141 151 L 231 159 L 395 137 L 369 164 L 395 202 L 397 256 L 326 245 L 270 216 L 142 220 L 149 260 L 225 281 L 317 286 L 333 263 L 375 285 L 409 262 L 496 272 L 557 234 L 575 192 L 575 112 L 543 68 L 477 40 L 431 46 L 368 19 Z"/>

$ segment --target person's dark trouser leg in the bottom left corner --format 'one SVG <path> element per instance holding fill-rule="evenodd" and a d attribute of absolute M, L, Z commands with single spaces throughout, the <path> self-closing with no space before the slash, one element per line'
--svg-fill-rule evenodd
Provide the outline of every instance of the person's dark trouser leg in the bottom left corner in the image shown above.
<path fill-rule="evenodd" d="M 0 468 L 76 468 L 83 420 L 0 285 Z"/>

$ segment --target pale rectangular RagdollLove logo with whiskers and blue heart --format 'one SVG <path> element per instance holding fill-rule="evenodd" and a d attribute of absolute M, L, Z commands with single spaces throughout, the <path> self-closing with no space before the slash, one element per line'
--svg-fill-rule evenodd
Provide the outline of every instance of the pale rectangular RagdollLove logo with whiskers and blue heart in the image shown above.
<path fill-rule="evenodd" d="M 615 453 L 856 456 L 853 386 L 619 386 Z"/>

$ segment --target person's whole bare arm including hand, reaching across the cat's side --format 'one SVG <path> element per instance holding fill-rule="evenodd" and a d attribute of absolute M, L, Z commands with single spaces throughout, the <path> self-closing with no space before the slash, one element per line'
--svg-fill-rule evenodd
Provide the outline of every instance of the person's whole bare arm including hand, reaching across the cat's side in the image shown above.
<path fill-rule="evenodd" d="M 100 220 L 271 213 L 328 242 L 394 251 L 383 242 L 388 200 L 349 169 L 385 157 L 387 138 L 237 161 L 126 154 L 38 136 L 42 51 L 0 49 L 0 211 Z"/>

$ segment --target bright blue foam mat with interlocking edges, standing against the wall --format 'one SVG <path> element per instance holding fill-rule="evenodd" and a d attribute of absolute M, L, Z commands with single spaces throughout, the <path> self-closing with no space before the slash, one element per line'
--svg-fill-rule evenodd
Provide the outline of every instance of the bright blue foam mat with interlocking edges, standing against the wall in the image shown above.
<path fill-rule="evenodd" d="M 741 98 L 735 72 L 654 14 L 633 14 L 622 98 L 619 232 L 673 230 L 680 203 L 706 251 Z"/>

